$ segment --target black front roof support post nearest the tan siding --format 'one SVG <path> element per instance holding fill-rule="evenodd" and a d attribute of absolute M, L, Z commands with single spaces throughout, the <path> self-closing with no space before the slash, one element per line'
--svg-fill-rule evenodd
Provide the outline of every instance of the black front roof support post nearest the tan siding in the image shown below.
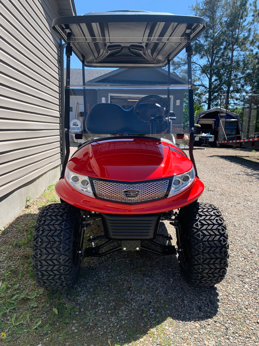
<path fill-rule="evenodd" d="M 69 161 L 70 153 L 70 144 L 69 144 L 69 111 L 70 111 L 70 56 L 72 55 L 72 47 L 70 45 L 71 33 L 68 33 L 67 37 L 67 46 L 66 46 L 66 89 L 65 89 L 65 120 L 64 120 L 64 132 L 65 132 L 65 147 L 66 147 L 66 156 L 63 162 L 61 178 L 64 177 L 65 169 Z"/>

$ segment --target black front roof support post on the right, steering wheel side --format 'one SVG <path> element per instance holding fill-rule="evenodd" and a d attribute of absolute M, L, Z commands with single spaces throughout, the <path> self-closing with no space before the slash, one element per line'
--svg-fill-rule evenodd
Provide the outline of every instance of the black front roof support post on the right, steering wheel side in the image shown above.
<path fill-rule="evenodd" d="M 191 55 L 192 55 L 192 48 L 190 42 L 188 42 L 186 46 L 186 53 L 187 53 L 187 67 L 188 67 L 188 96 L 189 96 L 189 132 L 190 132 L 190 139 L 189 139 L 189 155 L 190 160 L 193 164 L 193 167 L 195 169 L 195 174 L 197 176 L 197 168 L 194 161 L 193 156 L 193 143 L 194 143 L 194 102 L 193 102 L 193 89 L 192 89 L 192 73 L 191 73 Z"/>

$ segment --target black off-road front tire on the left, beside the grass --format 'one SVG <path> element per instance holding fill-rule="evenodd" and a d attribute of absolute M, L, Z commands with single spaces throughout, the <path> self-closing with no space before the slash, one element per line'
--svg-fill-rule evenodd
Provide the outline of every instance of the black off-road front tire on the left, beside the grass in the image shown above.
<path fill-rule="evenodd" d="M 81 213 L 75 207 L 55 203 L 40 212 L 33 244 L 33 269 L 40 286 L 64 290 L 77 281 L 82 237 Z"/>

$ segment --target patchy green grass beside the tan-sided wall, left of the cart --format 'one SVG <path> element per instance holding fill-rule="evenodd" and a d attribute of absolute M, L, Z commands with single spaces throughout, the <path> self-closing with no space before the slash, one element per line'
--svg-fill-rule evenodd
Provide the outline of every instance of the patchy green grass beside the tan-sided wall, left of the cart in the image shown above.
<path fill-rule="evenodd" d="M 78 310 L 66 303 L 61 292 L 48 292 L 34 282 L 32 242 L 37 214 L 44 205 L 58 201 L 49 186 L 35 201 L 27 198 L 26 208 L 0 232 L 0 338 L 6 345 L 35 345 L 37 334 L 50 335 L 51 341 L 53 326 L 65 328 Z"/>

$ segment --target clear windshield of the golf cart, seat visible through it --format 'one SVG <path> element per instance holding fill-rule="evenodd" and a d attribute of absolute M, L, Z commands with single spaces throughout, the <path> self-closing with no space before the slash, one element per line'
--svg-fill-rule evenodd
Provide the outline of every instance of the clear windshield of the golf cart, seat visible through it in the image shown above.
<path fill-rule="evenodd" d="M 70 145 L 110 136 L 174 141 L 182 132 L 187 81 L 163 68 L 70 70 Z M 186 108 L 186 104 L 185 104 Z"/>

